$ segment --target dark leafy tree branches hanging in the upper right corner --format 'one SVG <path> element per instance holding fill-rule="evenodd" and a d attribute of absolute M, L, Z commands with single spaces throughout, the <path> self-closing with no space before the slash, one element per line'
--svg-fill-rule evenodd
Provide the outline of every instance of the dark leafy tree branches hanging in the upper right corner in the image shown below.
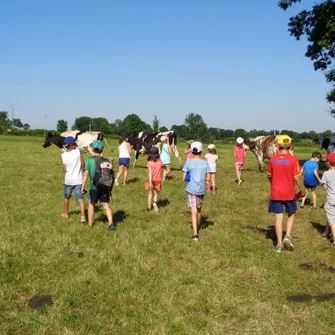
<path fill-rule="evenodd" d="M 286 10 L 301 0 L 280 0 L 278 5 Z M 315 4 L 311 10 L 303 10 L 290 18 L 291 36 L 300 40 L 306 36 L 308 41 L 306 57 L 313 61 L 314 69 L 323 71 L 331 90 L 326 95 L 331 104 L 330 112 L 335 117 L 335 1 L 324 0 Z"/>

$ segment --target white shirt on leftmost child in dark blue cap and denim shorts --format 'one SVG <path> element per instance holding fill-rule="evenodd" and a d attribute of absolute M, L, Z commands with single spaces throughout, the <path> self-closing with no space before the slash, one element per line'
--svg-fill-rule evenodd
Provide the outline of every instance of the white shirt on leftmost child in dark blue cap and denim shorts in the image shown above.
<path fill-rule="evenodd" d="M 62 162 L 66 166 L 65 185 L 81 185 L 83 181 L 83 172 L 79 149 L 63 152 Z"/>

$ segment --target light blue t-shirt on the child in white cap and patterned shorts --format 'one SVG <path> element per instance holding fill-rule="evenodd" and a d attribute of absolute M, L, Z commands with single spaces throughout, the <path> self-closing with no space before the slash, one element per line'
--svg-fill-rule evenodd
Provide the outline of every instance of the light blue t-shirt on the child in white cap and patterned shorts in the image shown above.
<path fill-rule="evenodd" d="M 207 161 L 189 159 L 186 161 L 183 171 L 190 173 L 190 181 L 187 183 L 186 192 L 196 195 L 205 194 L 206 174 L 211 171 Z"/>

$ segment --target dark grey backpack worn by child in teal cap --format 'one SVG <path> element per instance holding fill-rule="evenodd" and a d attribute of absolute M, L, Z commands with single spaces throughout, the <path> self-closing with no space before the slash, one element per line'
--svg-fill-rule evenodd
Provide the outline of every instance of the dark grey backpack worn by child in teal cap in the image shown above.
<path fill-rule="evenodd" d="M 113 164 L 104 157 L 93 156 L 95 159 L 95 174 L 93 185 L 98 191 L 110 194 L 114 185 Z"/>

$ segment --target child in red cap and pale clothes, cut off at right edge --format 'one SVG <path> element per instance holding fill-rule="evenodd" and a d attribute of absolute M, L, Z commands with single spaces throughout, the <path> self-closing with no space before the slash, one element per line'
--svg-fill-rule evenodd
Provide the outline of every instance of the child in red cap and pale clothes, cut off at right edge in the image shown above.
<path fill-rule="evenodd" d="M 323 189 L 327 192 L 327 201 L 324 206 L 327 215 L 327 226 L 323 239 L 329 240 L 330 231 L 333 238 L 335 236 L 335 153 L 329 153 L 326 159 L 329 170 L 325 171 L 321 178 Z M 335 247 L 334 241 L 331 246 Z"/>

